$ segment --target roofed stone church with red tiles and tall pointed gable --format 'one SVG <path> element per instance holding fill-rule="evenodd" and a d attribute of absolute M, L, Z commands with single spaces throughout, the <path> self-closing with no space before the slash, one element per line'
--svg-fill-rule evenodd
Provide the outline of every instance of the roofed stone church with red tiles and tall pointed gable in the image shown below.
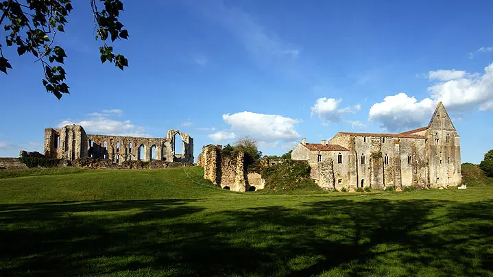
<path fill-rule="evenodd" d="M 424 188 L 461 182 L 459 135 L 442 102 L 426 127 L 398 134 L 338 132 L 322 143 L 302 139 L 291 158 L 308 160 L 311 177 L 327 189 Z"/>

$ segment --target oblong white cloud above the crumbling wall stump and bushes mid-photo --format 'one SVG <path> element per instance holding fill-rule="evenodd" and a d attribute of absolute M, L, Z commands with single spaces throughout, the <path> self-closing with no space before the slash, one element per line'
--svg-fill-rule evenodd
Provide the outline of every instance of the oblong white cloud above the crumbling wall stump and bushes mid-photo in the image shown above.
<path fill-rule="evenodd" d="M 248 136 L 258 142 L 289 142 L 300 138 L 295 129 L 295 125 L 300 123 L 298 119 L 254 112 L 226 114 L 223 115 L 223 119 L 231 125 L 231 130 L 236 134 Z"/>

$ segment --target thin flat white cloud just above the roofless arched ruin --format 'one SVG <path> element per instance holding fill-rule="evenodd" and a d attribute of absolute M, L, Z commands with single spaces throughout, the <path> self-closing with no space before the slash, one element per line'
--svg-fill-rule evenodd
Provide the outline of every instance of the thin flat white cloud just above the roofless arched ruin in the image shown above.
<path fill-rule="evenodd" d="M 84 130 L 92 134 L 111 134 L 115 136 L 151 136 L 150 134 L 145 134 L 144 128 L 134 125 L 130 120 L 119 121 L 115 119 L 110 119 L 111 115 L 123 115 L 122 110 L 103 110 L 103 113 L 93 112 L 89 114 L 93 116 L 91 119 L 86 119 L 82 121 L 64 120 L 58 124 L 59 128 L 64 125 L 82 125 Z"/>

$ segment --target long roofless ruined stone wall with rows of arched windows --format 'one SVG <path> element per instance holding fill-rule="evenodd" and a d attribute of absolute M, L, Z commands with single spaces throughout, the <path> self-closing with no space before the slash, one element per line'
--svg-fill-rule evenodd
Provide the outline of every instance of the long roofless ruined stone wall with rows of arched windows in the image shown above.
<path fill-rule="evenodd" d="M 175 153 L 176 135 L 183 142 L 182 154 Z M 108 159 L 116 164 L 125 160 L 193 163 L 193 139 L 189 134 L 173 129 L 168 131 L 166 138 L 157 139 L 86 134 L 80 125 L 66 125 L 60 129 L 45 129 L 44 155 L 71 161 L 92 157 Z"/>

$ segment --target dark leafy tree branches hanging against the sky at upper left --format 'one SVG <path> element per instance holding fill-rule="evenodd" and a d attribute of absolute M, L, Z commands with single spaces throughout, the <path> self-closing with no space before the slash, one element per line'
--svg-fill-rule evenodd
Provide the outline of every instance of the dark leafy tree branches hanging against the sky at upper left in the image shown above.
<path fill-rule="evenodd" d="M 101 62 L 108 61 L 123 70 L 123 67 L 128 67 L 128 60 L 119 53 L 113 53 L 113 47 L 106 44 L 108 39 L 113 42 L 117 38 L 128 38 L 128 31 L 119 21 L 123 3 L 120 0 L 89 1 L 96 40 L 102 42 L 99 47 Z M 67 16 L 73 10 L 71 0 L 6 0 L 0 2 L 0 9 L 0 27 L 3 26 L 5 32 L 6 47 L 17 47 L 19 56 L 29 54 L 40 62 L 45 73 L 43 86 L 47 92 L 58 99 L 64 93 L 70 93 L 69 86 L 64 82 L 66 72 L 62 67 L 67 54 L 62 47 L 55 45 L 55 38 L 58 32 L 65 32 Z M 0 44 L 0 71 L 7 74 L 12 64 L 3 56 L 2 47 Z"/>

